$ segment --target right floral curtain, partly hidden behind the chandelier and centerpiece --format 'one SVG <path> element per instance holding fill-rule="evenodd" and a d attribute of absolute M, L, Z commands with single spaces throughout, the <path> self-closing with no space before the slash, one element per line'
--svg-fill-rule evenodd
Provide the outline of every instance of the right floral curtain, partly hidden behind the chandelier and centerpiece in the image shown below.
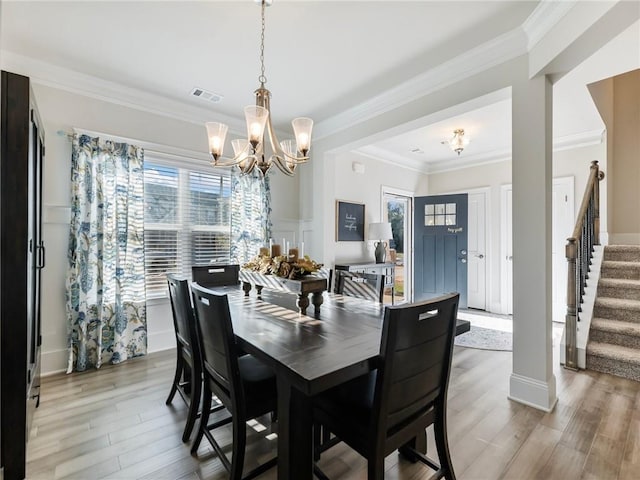
<path fill-rule="evenodd" d="M 255 257 L 271 237 L 269 177 L 255 169 L 249 175 L 231 173 L 231 261 L 240 265 Z"/>

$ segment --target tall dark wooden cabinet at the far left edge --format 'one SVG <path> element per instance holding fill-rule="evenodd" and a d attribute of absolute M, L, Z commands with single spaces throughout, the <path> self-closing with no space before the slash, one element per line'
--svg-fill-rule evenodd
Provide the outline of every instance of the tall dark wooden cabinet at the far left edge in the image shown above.
<path fill-rule="evenodd" d="M 27 77 L 0 84 L 0 453 L 5 480 L 25 477 L 39 399 L 43 130 Z"/>

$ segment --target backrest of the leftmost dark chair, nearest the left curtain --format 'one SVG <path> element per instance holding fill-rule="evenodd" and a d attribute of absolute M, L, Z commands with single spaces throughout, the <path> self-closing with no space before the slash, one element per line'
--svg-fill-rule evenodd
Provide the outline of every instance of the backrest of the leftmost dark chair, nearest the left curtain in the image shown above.
<path fill-rule="evenodd" d="M 196 334 L 196 320 L 191 307 L 189 281 L 170 273 L 167 274 L 167 284 L 177 347 L 186 350 L 198 365 L 200 363 L 198 337 Z"/>

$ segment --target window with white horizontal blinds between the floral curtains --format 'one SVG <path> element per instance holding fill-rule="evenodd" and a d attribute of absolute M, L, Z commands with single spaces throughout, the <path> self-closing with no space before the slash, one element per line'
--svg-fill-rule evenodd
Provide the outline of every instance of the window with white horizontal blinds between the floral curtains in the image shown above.
<path fill-rule="evenodd" d="M 145 162 L 144 243 L 147 298 L 167 293 L 167 273 L 189 277 L 192 265 L 228 261 L 231 179 Z"/>

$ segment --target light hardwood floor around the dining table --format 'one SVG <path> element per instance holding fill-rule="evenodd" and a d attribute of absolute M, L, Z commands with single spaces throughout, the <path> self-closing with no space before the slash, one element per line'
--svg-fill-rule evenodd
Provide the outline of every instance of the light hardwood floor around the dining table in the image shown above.
<path fill-rule="evenodd" d="M 164 401 L 175 352 L 151 354 L 99 371 L 45 378 L 28 444 L 29 479 L 227 478 L 206 441 L 198 458 L 180 440 L 186 408 Z M 448 431 L 459 479 L 640 478 L 640 383 L 558 367 L 559 402 L 545 414 L 507 399 L 511 353 L 456 347 Z M 268 428 L 252 432 L 247 466 L 275 452 Z M 258 430 L 259 425 L 257 426 Z M 222 432 L 230 443 L 229 432 Z M 429 450 L 435 445 L 429 432 Z M 432 471 L 397 454 L 388 480 L 427 479 Z M 366 478 L 366 464 L 338 445 L 321 468 L 335 480 Z M 276 469 L 260 477 L 276 479 Z"/>

